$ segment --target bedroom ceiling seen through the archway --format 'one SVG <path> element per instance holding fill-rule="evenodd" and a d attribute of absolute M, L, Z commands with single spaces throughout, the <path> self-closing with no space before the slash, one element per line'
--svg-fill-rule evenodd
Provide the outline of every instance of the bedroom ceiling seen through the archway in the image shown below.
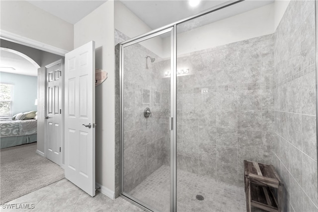
<path fill-rule="evenodd" d="M 30 76 L 38 75 L 38 68 L 25 57 L 3 50 L 0 50 L 0 71 Z"/>

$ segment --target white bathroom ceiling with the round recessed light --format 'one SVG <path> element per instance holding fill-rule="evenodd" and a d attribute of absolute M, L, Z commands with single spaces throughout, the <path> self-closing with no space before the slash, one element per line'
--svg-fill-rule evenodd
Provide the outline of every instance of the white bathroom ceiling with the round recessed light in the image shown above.
<path fill-rule="evenodd" d="M 99 7 L 107 0 L 27 0 L 33 5 L 71 23 L 75 24 L 94 9 Z M 189 6 L 188 0 L 120 0 L 150 28 L 157 29 L 161 26 L 181 20 L 205 9 L 217 6 L 225 2 L 235 0 L 202 0 L 196 7 Z M 239 3 L 240 7 L 227 12 L 219 12 L 214 15 L 217 21 L 230 17 L 241 12 L 248 11 L 269 3 L 274 0 L 246 0 Z M 201 25 L 207 21 L 201 22 Z M 198 27 L 198 26 L 197 26 Z"/>

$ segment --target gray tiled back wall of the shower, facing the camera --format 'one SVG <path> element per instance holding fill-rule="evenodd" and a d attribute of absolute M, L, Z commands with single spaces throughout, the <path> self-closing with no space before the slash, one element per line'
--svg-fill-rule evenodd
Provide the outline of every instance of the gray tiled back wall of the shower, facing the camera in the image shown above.
<path fill-rule="evenodd" d="M 243 160 L 273 163 L 273 34 L 177 58 L 178 168 L 243 186 Z M 203 90 L 208 89 L 208 92 Z"/>

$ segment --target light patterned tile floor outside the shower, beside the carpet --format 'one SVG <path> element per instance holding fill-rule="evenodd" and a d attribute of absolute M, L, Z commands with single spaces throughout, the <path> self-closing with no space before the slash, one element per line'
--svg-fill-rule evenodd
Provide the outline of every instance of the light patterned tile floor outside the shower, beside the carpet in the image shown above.
<path fill-rule="evenodd" d="M 11 206 L 11 209 L 6 207 Z M 12 208 L 15 207 L 15 208 Z M 26 207 L 26 208 L 23 208 Z M 121 197 L 115 200 L 100 192 L 95 197 L 62 179 L 3 205 L 1 212 L 143 212 Z"/>

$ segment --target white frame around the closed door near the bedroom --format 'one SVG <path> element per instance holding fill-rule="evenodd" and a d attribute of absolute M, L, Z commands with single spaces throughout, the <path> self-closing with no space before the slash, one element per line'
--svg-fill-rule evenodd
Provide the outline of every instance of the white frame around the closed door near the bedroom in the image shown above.
<path fill-rule="evenodd" d="M 45 108 L 45 110 L 44 110 L 44 113 L 45 113 L 45 116 L 47 115 L 47 98 L 48 98 L 48 96 L 47 96 L 47 69 L 48 68 L 50 68 L 50 67 L 52 67 L 52 66 L 55 66 L 55 65 L 57 65 L 57 64 L 59 64 L 59 63 L 61 63 L 61 80 L 62 80 L 62 82 L 61 82 L 61 98 L 62 98 L 62 102 L 61 102 L 61 104 L 62 104 L 62 106 L 61 106 L 61 109 L 62 109 L 62 122 L 61 122 L 61 143 L 60 143 L 60 146 L 61 146 L 61 164 L 58 164 L 58 165 L 60 165 L 63 169 L 64 169 L 64 145 L 65 145 L 65 142 L 64 142 L 64 115 L 63 115 L 63 113 L 65 112 L 65 108 L 64 108 L 64 66 L 65 66 L 65 62 L 64 62 L 64 60 L 63 59 L 60 59 L 60 60 L 57 60 L 57 61 L 55 61 L 55 62 L 53 62 L 53 63 L 50 63 L 50 64 L 48 64 L 48 65 L 46 65 L 46 66 L 44 66 L 45 67 L 45 106 L 44 106 L 44 108 Z M 48 142 L 48 140 L 47 140 L 47 137 L 48 137 L 48 132 L 47 132 L 47 119 L 45 119 L 44 120 L 45 121 L 45 128 L 44 128 L 44 156 L 47 158 L 47 154 L 46 154 L 46 152 L 47 152 L 47 142 Z"/>

